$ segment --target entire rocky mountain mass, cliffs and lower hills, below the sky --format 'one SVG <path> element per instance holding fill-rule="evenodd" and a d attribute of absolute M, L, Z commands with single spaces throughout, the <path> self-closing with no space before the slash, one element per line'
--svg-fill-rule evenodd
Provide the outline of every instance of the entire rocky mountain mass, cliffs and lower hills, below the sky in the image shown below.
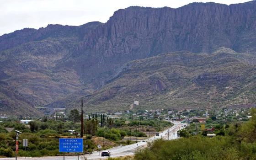
<path fill-rule="evenodd" d="M 40 115 L 33 107 L 77 107 L 85 96 L 100 110 L 127 109 L 133 99 L 144 107 L 252 102 L 255 28 L 256 1 L 250 1 L 132 6 L 106 23 L 5 34 L 0 111 Z"/>

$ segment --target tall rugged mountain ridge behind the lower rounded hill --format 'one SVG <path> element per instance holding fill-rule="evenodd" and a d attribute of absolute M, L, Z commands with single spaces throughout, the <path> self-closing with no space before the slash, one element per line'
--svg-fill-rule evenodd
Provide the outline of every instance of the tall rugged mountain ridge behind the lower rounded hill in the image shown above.
<path fill-rule="evenodd" d="M 255 28 L 256 1 L 234 5 L 192 3 L 177 9 L 133 6 L 116 11 L 104 24 L 25 28 L 0 36 L 0 80 L 5 84 L 0 87 L 8 87 L 12 94 L 24 97 L 24 106 L 74 106 L 72 101 L 85 95 L 94 95 L 92 99 L 96 100 L 103 93 L 102 89 L 121 76 L 126 68 L 124 64 L 137 59 L 183 50 L 211 54 L 219 47 L 241 54 L 231 54 L 233 56 L 245 53 L 247 57 L 254 57 Z M 187 57 L 188 62 L 189 58 L 194 58 L 194 54 Z M 200 59 L 203 61 L 202 57 Z M 254 59 L 243 60 L 246 65 L 255 62 Z M 218 67 L 217 64 L 214 66 Z M 209 81 L 216 78 L 214 74 L 202 76 Z M 151 79 L 154 77 L 163 78 L 154 82 L 158 84 L 157 90 L 170 88 L 163 74 L 155 73 Z M 144 85 L 151 91 L 149 83 Z M 6 90 L 0 93 L 0 107 L 11 110 L 17 100 L 6 96 Z M 114 93 L 110 90 L 106 94 L 114 100 Z M 105 99 L 110 101 L 110 98 Z M 6 107 L 10 101 L 13 105 Z M 89 101 L 96 104 L 91 98 L 88 104 Z"/>

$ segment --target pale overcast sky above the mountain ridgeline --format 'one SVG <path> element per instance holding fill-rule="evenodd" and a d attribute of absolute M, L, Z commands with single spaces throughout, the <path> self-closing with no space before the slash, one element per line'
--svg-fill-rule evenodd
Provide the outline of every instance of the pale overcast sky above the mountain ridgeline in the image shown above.
<path fill-rule="evenodd" d="M 129 6 L 178 8 L 192 2 L 222 4 L 250 0 L 0 0 L 0 35 L 48 24 L 80 26 L 90 21 L 107 22 L 114 11 Z"/>

